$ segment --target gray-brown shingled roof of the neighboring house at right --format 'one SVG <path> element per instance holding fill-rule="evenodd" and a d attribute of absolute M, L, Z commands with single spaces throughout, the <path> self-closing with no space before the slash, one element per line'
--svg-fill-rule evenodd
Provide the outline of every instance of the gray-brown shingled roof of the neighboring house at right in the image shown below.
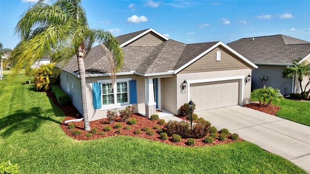
<path fill-rule="evenodd" d="M 282 34 L 243 38 L 227 45 L 255 64 L 290 65 L 310 54 L 310 42 Z"/>

